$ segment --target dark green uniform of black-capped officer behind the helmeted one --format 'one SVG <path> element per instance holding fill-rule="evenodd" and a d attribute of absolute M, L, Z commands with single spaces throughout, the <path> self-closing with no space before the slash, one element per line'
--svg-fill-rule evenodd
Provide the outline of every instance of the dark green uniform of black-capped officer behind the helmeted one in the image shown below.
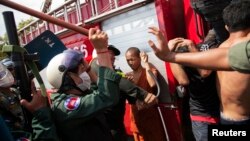
<path fill-rule="evenodd" d="M 96 61 L 97 59 L 92 60 L 91 70 L 98 74 L 99 66 Z M 116 70 L 116 73 L 122 77 L 125 76 L 121 70 Z M 128 100 L 130 104 L 135 104 L 137 99 L 143 101 L 147 95 L 147 91 L 136 86 L 134 83 L 125 78 L 121 78 L 119 88 L 119 102 L 105 111 L 105 117 L 115 141 L 127 141 L 126 130 L 123 123 L 126 110 L 126 100 Z"/>

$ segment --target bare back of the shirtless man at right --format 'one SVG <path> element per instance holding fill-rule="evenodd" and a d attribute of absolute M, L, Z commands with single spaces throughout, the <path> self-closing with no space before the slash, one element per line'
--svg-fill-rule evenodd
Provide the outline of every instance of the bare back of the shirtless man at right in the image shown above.
<path fill-rule="evenodd" d="M 220 48 L 250 40 L 249 29 L 230 35 Z M 222 112 L 225 118 L 241 121 L 250 115 L 250 74 L 237 71 L 217 71 L 217 90 L 221 97 Z"/>

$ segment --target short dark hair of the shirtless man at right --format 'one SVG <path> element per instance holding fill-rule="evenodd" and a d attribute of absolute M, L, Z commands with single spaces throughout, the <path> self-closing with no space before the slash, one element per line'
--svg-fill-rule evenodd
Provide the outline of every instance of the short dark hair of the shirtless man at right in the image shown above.
<path fill-rule="evenodd" d="M 236 32 L 250 28 L 250 1 L 232 1 L 223 10 L 223 20 L 229 32 Z"/>

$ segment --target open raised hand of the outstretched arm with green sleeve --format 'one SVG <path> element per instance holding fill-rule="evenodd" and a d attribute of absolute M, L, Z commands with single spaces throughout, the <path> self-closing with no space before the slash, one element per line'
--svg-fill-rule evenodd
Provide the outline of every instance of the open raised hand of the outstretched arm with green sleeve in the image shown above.
<path fill-rule="evenodd" d="M 167 41 L 163 33 L 157 27 L 149 27 L 148 32 L 155 35 L 158 42 L 158 46 L 156 46 L 152 40 L 149 40 L 149 46 L 154 50 L 155 55 L 159 59 L 167 61 L 169 57 L 168 55 L 170 54 L 170 50 L 167 46 Z"/>

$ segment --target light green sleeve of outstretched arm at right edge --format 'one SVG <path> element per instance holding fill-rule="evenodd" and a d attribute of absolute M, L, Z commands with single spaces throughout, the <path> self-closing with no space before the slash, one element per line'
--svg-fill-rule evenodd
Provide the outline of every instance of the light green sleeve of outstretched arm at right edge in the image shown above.
<path fill-rule="evenodd" d="M 250 73 L 250 41 L 229 49 L 229 64 L 236 71 Z"/>

